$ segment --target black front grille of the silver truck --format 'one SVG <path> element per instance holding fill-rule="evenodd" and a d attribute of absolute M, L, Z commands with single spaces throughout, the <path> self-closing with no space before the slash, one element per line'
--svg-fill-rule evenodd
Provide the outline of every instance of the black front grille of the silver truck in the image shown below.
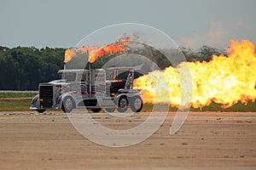
<path fill-rule="evenodd" d="M 53 86 L 51 84 L 39 85 L 39 99 L 41 108 L 53 106 Z"/>

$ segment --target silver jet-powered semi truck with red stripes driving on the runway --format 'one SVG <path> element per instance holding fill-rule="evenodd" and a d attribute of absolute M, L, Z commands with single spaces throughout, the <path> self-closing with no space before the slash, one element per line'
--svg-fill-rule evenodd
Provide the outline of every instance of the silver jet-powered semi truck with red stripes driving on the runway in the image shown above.
<path fill-rule="evenodd" d="M 143 99 L 139 89 L 133 88 L 135 69 L 111 67 L 107 70 L 89 68 L 58 71 L 58 79 L 40 83 L 39 94 L 32 99 L 30 109 L 43 113 L 46 110 L 90 109 L 99 112 L 115 110 L 139 112 Z M 108 79 L 107 79 L 108 77 Z M 109 78 L 110 77 L 110 78 Z"/>

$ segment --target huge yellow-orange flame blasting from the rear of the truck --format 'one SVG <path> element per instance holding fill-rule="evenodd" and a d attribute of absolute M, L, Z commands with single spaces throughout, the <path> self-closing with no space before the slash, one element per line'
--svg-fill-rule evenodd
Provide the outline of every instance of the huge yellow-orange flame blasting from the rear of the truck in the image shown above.
<path fill-rule="evenodd" d="M 230 40 L 228 57 L 224 55 L 212 55 L 210 62 L 183 62 L 173 68 L 164 71 L 153 71 L 134 81 L 134 88 L 141 89 L 143 102 L 170 103 L 172 106 L 192 105 L 194 108 L 202 108 L 210 105 L 212 101 L 221 104 L 224 108 L 230 107 L 241 101 L 256 99 L 256 54 L 252 42 L 244 40 L 236 42 Z M 187 68 L 190 70 L 192 90 L 182 89 L 186 87 Z M 167 87 L 163 86 L 166 82 Z M 189 83 L 187 83 L 189 85 Z M 162 88 L 154 88 L 161 87 Z M 188 88 L 191 89 L 191 88 Z M 181 104 L 182 90 L 186 96 L 192 96 L 192 100 L 184 99 Z M 157 93 L 159 97 L 155 98 Z M 169 94 L 166 95 L 166 94 Z M 189 97 L 188 97 L 189 99 Z"/>

